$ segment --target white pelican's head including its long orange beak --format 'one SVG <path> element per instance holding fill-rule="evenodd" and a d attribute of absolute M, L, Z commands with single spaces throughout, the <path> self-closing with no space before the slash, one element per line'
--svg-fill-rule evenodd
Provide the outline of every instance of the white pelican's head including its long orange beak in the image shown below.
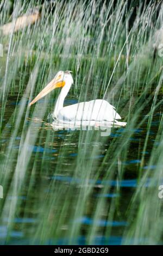
<path fill-rule="evenodd" d="M 73 83 L 71 72 L 72 71 L 69 70 L 65 72 L 59 71 L 55 75 L 54 79 L 51 82 L 49 82 L 45 88 L 43 88 L 43 90 L 35 97 L 33 101 L 29 103 L 29 106 L 33 105 L 37 100 L 40 100 L 42 97 L 52 92 L 52 90 L 54 90 L 55 88 L 69 87 L 70 89 Z"/>

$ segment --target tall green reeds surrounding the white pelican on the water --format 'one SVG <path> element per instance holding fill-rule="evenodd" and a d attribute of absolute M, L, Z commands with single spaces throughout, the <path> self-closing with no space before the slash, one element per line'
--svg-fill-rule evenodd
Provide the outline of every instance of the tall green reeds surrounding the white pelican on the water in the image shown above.
<path fill-rule="evenodd" d="M 36 7 L 41 13 L 34 25 L 16 33 L 13 28 L 8 36 L 1 33 L 2 225 L 8 219 L 3 243 L 12 243 L 10 234 L 16 229 L 32 244 L 57 243 L 60 238 L 66 239 L 63 243 L 78 243 L 82 235 L 91 244 L 98 235 L 114 235 L 111 225 L 99 227 L 98 220 L 124 218 L 128 225 L 119 231 L 122 243 L 162 243 L 162 200 L 158 198 L 162 119 L 148 157 L 149 166 L 156 165 L 156 169 L 143 169 L 154 113 L 161 111 L 162 105 L 162 58 L 154 46 L 156 31 L 162 26 L 162 5 L 160 1 L 140 1 L 132 22 L 135 4 L 121 0 L 1 2 L 1 26 L 34 13 Z M 28 100 L 59 70 L 73 71 L 71 99 L 104 98 L 116 107 L 128 123 L 120 137 L 102 137 L 101 131 L 68 131 L 58 137 L 47 115 L 53 111 L 59 90 L 28 107 Z M 12 112 L 11 99 L 16 102 Z M 146 134 L 136 145 L 135 156 L 141 162 L 132 173 L 137 187 L 123 208 L 121 182 L 128 171 L 123 162 L 130 157 L 135 129 L 141 127 Z M 41 157 L 38 150 L 33 151 L 35 145 L 47 149 Z M 97 158 L 101 154 L 102 160 Z M 59 176 L 71 179 L 59 182 Z M 117 181 L 114 188 L 108 185 L 111 180 Z M 93 197 L 97 192 L 101 197 Z M 120 196 L 102 197 L 113 192 Z M 8 196 L 12 200 L 7 200 Z M 84 216 L 92 218 L 91 225 L 85 227 L 80 222 Z M 16 224 L 18 217 L 36 222 Z"/>

